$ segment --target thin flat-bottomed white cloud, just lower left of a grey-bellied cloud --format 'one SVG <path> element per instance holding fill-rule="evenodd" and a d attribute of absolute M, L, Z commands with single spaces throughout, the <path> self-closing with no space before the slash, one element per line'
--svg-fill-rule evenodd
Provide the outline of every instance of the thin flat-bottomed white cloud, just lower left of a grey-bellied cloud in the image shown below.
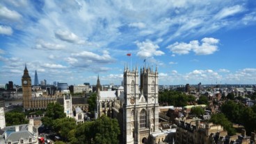
<path fill-rule="evenodd" d="M 35 44 L 35 46 L 33 48 L 41 49 L 41 50 L 62 50 L 65 48 L 65 46 L 62 44 L 54 44 L 54 43 L 50 43 L 50 42 L 45 42 L 44 40 L 39 39 L 38 43 Z"/>

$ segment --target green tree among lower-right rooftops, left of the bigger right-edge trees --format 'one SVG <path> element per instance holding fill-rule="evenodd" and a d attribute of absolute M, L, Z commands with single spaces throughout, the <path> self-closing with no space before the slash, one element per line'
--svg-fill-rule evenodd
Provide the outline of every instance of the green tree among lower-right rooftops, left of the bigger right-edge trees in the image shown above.
<path fill-rule="evenodd" d="M 233 128 L 232 123 L 229 120 L 227 120 L 223 113 L 213 114 L 209 122 L 222 125 L 224 129 L 227 131 L 227 134 L 230 136 L 236 134 L 236 131 Z"/>

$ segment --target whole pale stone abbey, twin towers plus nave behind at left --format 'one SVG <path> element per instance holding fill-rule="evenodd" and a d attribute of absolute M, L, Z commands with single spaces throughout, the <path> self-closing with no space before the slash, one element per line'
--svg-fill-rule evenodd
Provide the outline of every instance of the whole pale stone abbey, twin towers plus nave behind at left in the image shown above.
<path fill-rule="evenodd" d="M 125 67 L 123 77 L 123 87 L 118 88 L 115 96 L 98 91 L 97 115 L 118 119 L 122 143 L 154 143 L 161 133 L 157 68 L 144 66 L 139 73 L 138 68 Z"/>

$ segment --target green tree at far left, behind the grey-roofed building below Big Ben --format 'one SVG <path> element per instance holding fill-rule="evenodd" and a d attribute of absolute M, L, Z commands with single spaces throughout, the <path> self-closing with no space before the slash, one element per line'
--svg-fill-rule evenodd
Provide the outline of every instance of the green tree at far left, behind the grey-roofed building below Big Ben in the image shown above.
<path fill-rule="evenodd" d="M 6 117 L 6 126 L 10 125 L 21 125 L 29 123 L 29 120 L 26 119 L 25 114 L 17 112 L 7 112 Z"/>

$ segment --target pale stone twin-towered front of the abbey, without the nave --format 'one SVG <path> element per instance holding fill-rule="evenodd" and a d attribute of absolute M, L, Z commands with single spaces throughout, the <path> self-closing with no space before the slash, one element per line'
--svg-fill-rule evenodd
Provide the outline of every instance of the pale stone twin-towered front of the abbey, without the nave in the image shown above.
<path fill-rule="evenodd" d="M 123 137 L 125 143 L 147 143 L 159 132 L 158 72 L 151 67 L 124 71 Z"/>

